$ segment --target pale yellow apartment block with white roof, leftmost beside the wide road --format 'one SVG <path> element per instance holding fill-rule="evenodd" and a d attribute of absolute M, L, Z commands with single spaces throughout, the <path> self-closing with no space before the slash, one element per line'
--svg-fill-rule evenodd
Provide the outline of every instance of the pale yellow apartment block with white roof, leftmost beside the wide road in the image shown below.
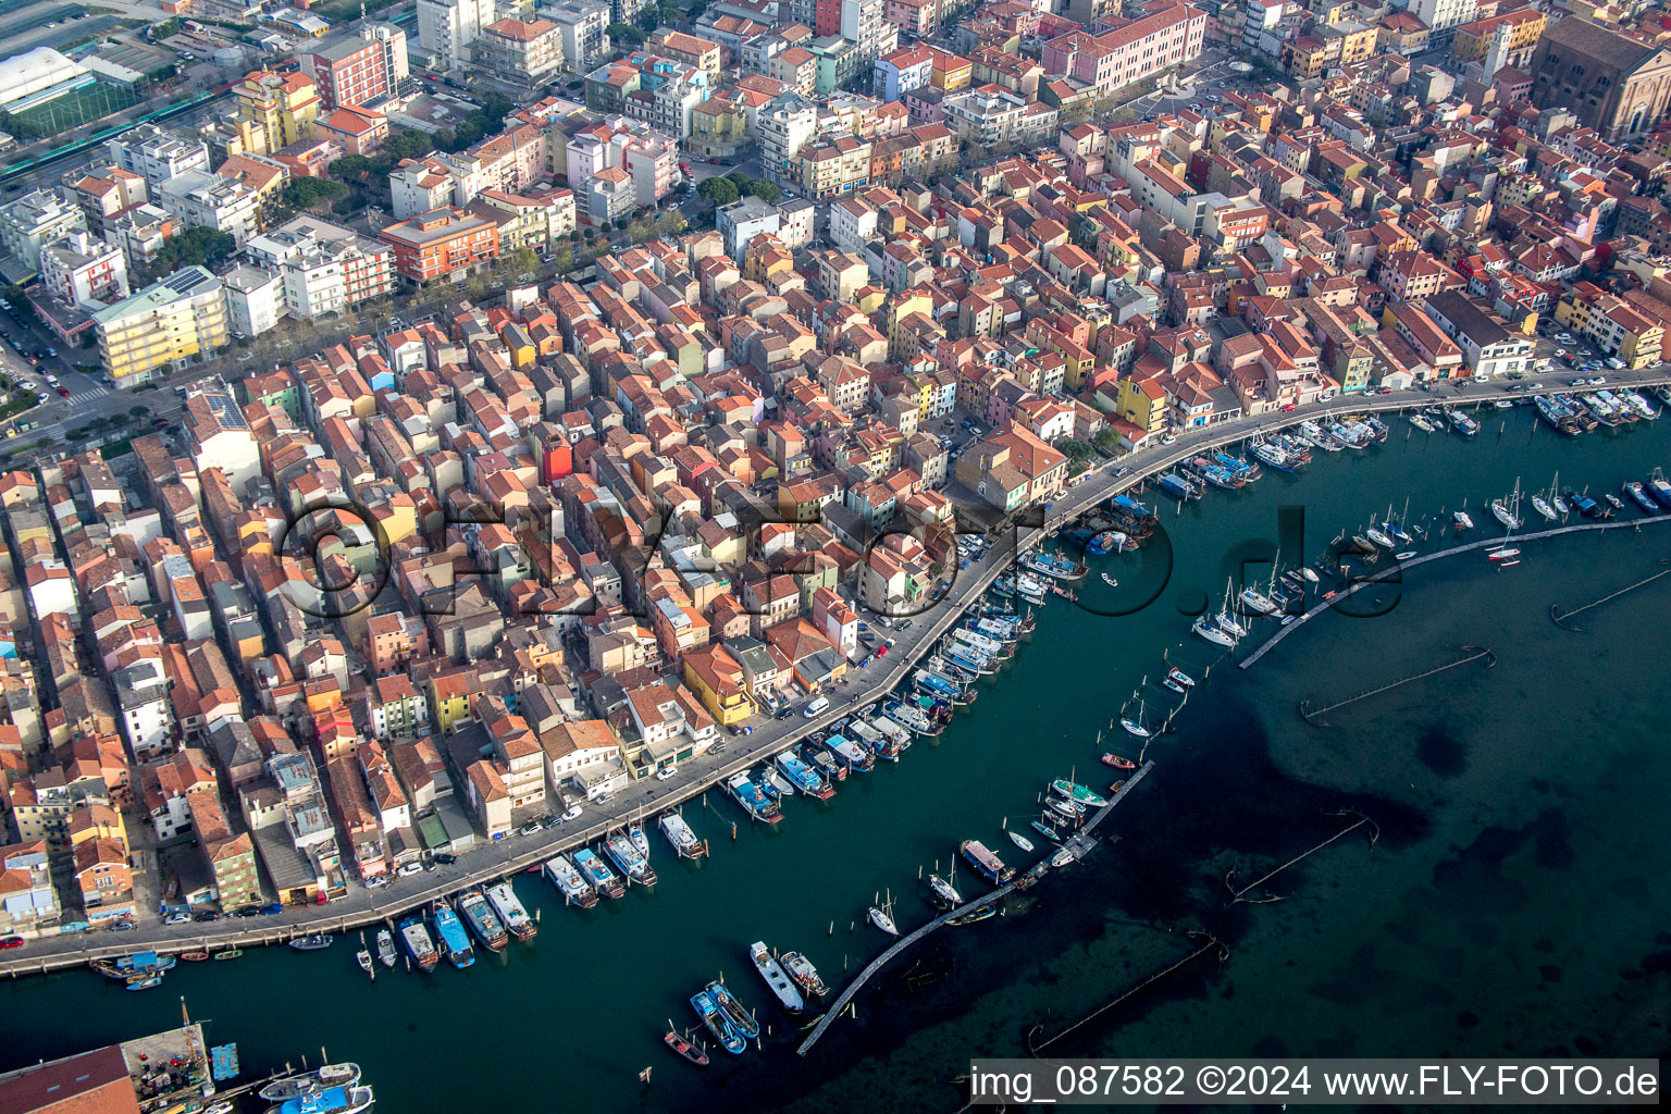
<path fill-rule="evenodd" d="M 207 267 L 182 267 L 94 314 L 99 359 L 119 387 L 226 347 L 226 291 Z M 369 411 L 368 411 L 369 413 Z"/>

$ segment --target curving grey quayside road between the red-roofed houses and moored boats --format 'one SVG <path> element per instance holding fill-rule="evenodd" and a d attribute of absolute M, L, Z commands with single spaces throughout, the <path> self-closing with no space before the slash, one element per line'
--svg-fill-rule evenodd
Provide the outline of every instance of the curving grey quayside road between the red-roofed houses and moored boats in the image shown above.
<path fill-rule="evenodd" d="M 1666 382 L 1668 379 L 1671 376 L 1658 372 L 1646 376 L 1641 382 Z M 1043 529 L 1019 528 L 1016 531 L 1016 548 L 1019 551 L 1038 544 L 1049 529 L 1083 514 L 1108 496 L 1130 489 L 1153 474 L 1168 471 L 1178 461 L 1213 446 L 1233 444 L 1257 433 L 1273 433 L 1278 428 L 1307 418 L 1399 411 L 1429 406 L 1437 401 L 1457 401 L 1469 406 L 1504 397 L 1507 396 L 1506 387 L 1507 384 L 1470 384 L 1460 397 L 1450 397 L 1449 391 L 1444 394 L 1439 391 L 1412 391 L 1389 396 L 1348 396 L 1290 413 L 1265 414 L 1262 418 L 1190 431 L 1180 434 L 1171 446 L 1155 446 L 1120 461 L 1103 461 L 1098 464 L 1084 481 L 1068 489 L 1051 506 Z M 1502 411 L 1502 414 L 1509 423 L 1536 421 L 1529 408 L 1516 408 Z M 1482 438 L 1491 436 L 1491 416 L 1484 418 L 1487 419 L 1487 429 L 1482 431 Z M 1115 474 L 1116 469 L 1120 474 Z M 914 616 L 911 630 L 896 633 L 894 646 L 886 658 L 872 661 L 864 670 L 856 670 L 852 680 L 832 693 L 832 708 L 825 715 L 815 720 L 805 720 L 797 715 L 790 720 L 765 722 L 752 735 L 729 740 L 725 753 L 705 755 L 682 763 L 682 777 L 675 782 L 632 785 L 617 793 L 607 807 L 592 807 L 585 818 L 573 823 L 528 837 L 508 837 L 501 842 L 478 845 L 463 853 L 456 863 L 436 865 L 423 875 L 396 880 L 379 890 L 356 887 L 348 897 L 329 905 L 287 909 L 274 917 L 222 919 L 212 924 L 172 927 L 162 925 L 154 914 L 147 914 L 130 932 L 100 930 L 95 934 L 33 939 L 22 949 L 0 954 L 3 955 L 0 959 L 0 974 L 20 975 L 79 965 L 90 959 L 122 955 L 135 950 L 182 952 L 202 947 L 231 947 L 234 944 L 281 944 L 307 932 L 344 932 L 376 925 L 393 920 L 409 909 L 456 894 L 468 885 L 538 865 L 561 850 L 597 840 L 607 830 L 632 822 L 637 817 L 643 817 L 648 822 L 655 813 L 698 798 L 732 773 L 755 767 L 807 735 L 825 730 L 834 720 L 851 715 L 856 706 L 867 705 L 897 686 L 909 676 L 916 663 L 934 648 L 941 635 L 981 598 L 993 578 L 1009 566 L 1013 556 L 1014 553 L 1011 553 L 1004 539 L 994 539 L 994 544 L 989 546 L 979 561 L 971 563 L 968 570 L 957 573 L 941 603 Z M 1298 623 L 1292 626 L 1298 626 Z M 740 810 L 735 817 L 737 823 L 749 823 Z M 692 820 L 698 828 L 707 828 L 702 835 L 707 835 L 710 845 L 717 848 L 714 822 L 707 817 L 692 817 Z M 663 847 L 658 835 L 652 833 L 652 840 L 655 840 L 657 847 Z M 663 850 L 662 853 L 670 853 L 670 850 Z"/>

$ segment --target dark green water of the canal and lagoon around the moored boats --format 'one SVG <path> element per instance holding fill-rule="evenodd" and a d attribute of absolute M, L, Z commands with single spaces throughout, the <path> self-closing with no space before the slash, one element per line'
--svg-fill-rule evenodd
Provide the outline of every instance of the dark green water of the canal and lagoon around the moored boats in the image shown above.
<path fill-rule="evenodd" d="M 177 1024 L 184 995 L 249 1067 L 314 1059 L 321 1044 L 359 1061 L 383 1111 L 956 1109 L 952 1077 L 971 1056 L 1023 1054 L 1026 1029 L 1054 1034 L 1118 997 L 1193 950 L 1195 929 L 1222 939 L 1228 962 L 1196 960 L 1051 1052 L 1666 1056 L 1671 578 L 1587 613 L 1584 633 L 1556 630 L 1547 610 L 1656 571 L 1671 526 L 1536 543 L 1504 571 L 1479 554 L 1429 565 L 1379 593 L 1379 618 L 1330 615 L 1250 671 L 1215 668 L 1178 733 L 1150 748 L 1153 775 L 1101 825 L 1118 842 L 1003 919 L 932 937 L 807 1061 L 780 1022 L 764 1054 L 707 1072 L 660 1047 L 665 1019 L 688 1024 L 687 997 L 720 970 L 769 1015 L 749 942 L 800 949 L 841 984 L 844 965 L 882 950 L 862 924 L 877 892 L 891 889 L 914 927 L 929 917 L 919 867 L 949 865 L 971 837 L 1014 862 L 999 825 L 1024 828 L 1044 780 L 1069 767 L 1111 780 L 1096 765 L 1098 728 L 1145 675 L 1158 680 L 1163 650 L 1203 675 L 1213 651 L 1188 636 L 1178 605 L 1216 600 L 1242 556 L 1268 558 L 1278 506 L 1303 508 L 1315 558 L 1337 529 L 1405 496 L 1412 518 L 1464 498 L 1482 509 L 1516 476 L 1547 486 L 1559 469 L 1562 483 L 1616 489 L 1671 458 L 1658 429 L 1557 441 L 1527 436 L 1521 409 L 1511 424 L 1519 433 L 1499 436 L 1491 416 L 1470 444 L 1404 441 L 1400 423 L 1365 456 L 1210 494 L 1166 519 L 1170 544 L 1100 560 L 1118 591 L 1086 581 L 1088 606 L 1165 583 L 1151 606 L 1110 618 L 1053 601 L 937 747 L 919 743 L 825 805 L 789 802 L 775 832 L 739 823 L 734 843 L 729 802 L 687 808 L 715 853 L 678 863 L 655 835 L 653 894 L 576 914 L 543 880 L 518 879 L 523 900 L 543 907 L 541 934 L 501 960 L 373 985 L 339 942 L 187 965 L 149 994 L 85 972 L 25 979 L 0 992 L 0 1067 Z M 1460 645 L 1494 648 L 1496 668 L 1342 708 L 1328 728 L 1295 713 L 1302 698 L 1328 703 Z M 1150 718 L 1168 703 L 1148 690 Z M 1360 830 L 1263 889 L 1283 900 L 1227 905 L 1227 872 L 1257 879 L 1338 832 L 1343 808 L 1372 817 L 1379 843 Z M 648 1089 L 637 1082 L 645 1066 Z"/>

